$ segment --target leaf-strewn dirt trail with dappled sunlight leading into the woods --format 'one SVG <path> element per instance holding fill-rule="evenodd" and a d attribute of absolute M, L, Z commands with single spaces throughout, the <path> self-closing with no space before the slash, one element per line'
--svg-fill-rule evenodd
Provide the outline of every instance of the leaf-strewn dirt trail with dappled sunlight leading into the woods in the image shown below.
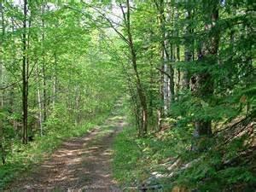
<path fill-rule="evenodd" d="M 112 116 L 84 137 L 67 141 L 42 165 L 6 191 L 119 192 L 111 177 L 113 137 L 125 125 Z"/>

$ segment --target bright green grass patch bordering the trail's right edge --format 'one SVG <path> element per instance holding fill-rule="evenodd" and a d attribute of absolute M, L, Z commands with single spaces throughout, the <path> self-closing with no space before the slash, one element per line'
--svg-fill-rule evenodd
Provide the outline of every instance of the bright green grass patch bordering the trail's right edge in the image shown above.
<path fill-rule="evenodd" d="M 127 125 L 113 143 L 113 177 L 123 188 L 140 186 L 152 177 L 152 172 L 165 172 L 166 167 L 160 165 L 177 155 L 172 149 L 169 139 L 158 139 L 153 134 L 139 138 L 136 128 Z M 163 184 L 160 180 L 151 180 L 150 183 Z M 165 189 L 171 188 L 165 184 Z"/>

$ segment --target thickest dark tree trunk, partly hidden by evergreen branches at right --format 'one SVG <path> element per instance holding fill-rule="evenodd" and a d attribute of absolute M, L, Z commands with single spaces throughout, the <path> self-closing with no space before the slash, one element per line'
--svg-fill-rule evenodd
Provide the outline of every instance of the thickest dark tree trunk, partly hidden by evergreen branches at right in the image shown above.
<path fill-rule="evenodd" d="M 206 23 L 205 31 L 214 27 L 215 23 L 218 21 L 218 2 L 214 4 L 207 4 L 207 9 L 209 9 L 210 15 L 206 14 L 206 20 L 211 20 L 211 23 Z M 214 58 L 215 63 L 217 63 L 216 56 L 218 53 L 218 33 L 214 33 L 209 39 L 202 44 L 202 48 L 199 51 L 198 60 L 202 62 L 207 62 L 209 60 L 209 56 Z M 212 63 L 211 59 L 211 63 Z M 199 62 L 200 63 L 200 62 Z M 210 65 L 210 63 L 208 64 Z M 208 98 L 211 98 L 213 95 L 214 87 L 213 87 L 213 79 L 211 73 L 202 72 L 195 75 L 192 79 L 192 92 L 195 96 L 199 97 L 204 102 L 207 101 Z M 201 104 L 199 104 L 201 106 Z M 201 137 L 211 137 L 212 136 L 212 120 L 206 119 L 195 119 L 195 139 Z M 203 146 L 200 146 L 199 143 L 196 143 L 192 148 L 200 149 Z"/>

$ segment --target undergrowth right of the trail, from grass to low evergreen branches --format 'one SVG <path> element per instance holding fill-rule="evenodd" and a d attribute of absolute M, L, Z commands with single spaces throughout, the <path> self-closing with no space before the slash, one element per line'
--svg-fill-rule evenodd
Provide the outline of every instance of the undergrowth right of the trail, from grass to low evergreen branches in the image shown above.
<path fill-rule="evenodd" d="M 208 143 L 212 147 L 202 152 L 189 150 L 191 140 L 180 137 L 186 138 L 178 126 L 139 138 L 135 126 L 127 125 L 114 141 L 113 176 L 124 189 L 146 183 L 159 184 L 164 191 L 177 186 L 214 192 L 216 188 L 233 191 L 235 186 L 239 192 L 254 191 L 253 154 L 247 154 L 247 160 L 237 156 L 247 147 L 243 137 L 221 145 L 223 139 L 216 136 L 215 143 Z M 176 162 L 177 169 L 171 171 Z M 237 183 L 246 187 L 240 189 Z"/>

